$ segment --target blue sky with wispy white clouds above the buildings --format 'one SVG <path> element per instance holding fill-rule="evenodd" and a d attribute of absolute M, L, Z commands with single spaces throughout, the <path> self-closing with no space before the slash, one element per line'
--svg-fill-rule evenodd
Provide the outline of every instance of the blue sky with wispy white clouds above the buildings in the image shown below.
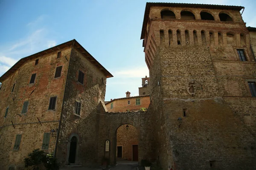
<path fill-rule="evenodd" d="M 76 39 L 114 77 L 105 100 L 137 96 L 148 75 L 140 40 L 145 0 L 0 0 L 0 76 L 20 58 Z M 256 27 L 256 0 L 179 0 L 244 6 L 247 26 Z"/>

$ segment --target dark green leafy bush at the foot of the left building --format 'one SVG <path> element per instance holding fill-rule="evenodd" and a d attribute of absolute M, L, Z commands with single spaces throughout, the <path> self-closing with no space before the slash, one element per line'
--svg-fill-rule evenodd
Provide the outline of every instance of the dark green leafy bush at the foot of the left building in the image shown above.
<path fill-rule="evenodd" d="M 52 154 L 46 154 L 43 150 L 35 149 L 24 159 L 25 167 L 32 167 L 33 170 L 58 170 L 59 165 Z"/>

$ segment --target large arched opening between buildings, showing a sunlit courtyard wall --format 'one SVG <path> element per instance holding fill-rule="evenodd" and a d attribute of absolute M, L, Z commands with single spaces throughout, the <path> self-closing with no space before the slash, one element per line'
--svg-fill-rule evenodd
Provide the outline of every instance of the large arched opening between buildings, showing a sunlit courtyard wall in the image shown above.
<path fill-rule="evenodd" d="M 138 161 L 138 133 L 133 125 L 116 130 L 116 161 Z"/>

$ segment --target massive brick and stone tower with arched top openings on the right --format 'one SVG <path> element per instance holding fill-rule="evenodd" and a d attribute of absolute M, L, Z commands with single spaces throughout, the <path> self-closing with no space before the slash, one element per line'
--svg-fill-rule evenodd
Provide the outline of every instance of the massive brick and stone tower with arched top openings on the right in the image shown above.
<path fill-rule="evenodd" d="M 256 167 L 255 29 L 243 8 L 146 4 L 152 159 L 163 169 Z"/>

